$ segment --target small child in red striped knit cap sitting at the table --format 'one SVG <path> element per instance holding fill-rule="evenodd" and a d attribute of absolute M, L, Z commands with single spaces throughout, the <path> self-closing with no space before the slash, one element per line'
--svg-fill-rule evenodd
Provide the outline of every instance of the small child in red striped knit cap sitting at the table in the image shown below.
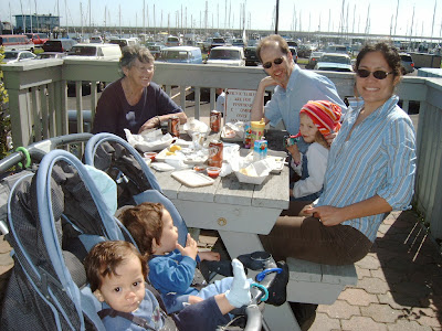
<path fill-rule="evenodd" d="M 315 201 L 323 192 L 329 146 L 324 137 L 340 128 L 340 107 L 326 100 L 308 102 L 299 111 L 299 134 L 307 143 L 287 146 L 291 166 L 301 177 L 291 189 L 291 201 Z"/>

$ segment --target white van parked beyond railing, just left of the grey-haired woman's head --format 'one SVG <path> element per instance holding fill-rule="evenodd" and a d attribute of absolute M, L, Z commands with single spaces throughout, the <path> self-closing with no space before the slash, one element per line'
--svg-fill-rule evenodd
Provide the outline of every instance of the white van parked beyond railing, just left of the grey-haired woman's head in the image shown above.
<path fill-rule="evenodd" d="M 66 58 L 119 60 L 122 50 L 116 44 L 75 44 Z"/>

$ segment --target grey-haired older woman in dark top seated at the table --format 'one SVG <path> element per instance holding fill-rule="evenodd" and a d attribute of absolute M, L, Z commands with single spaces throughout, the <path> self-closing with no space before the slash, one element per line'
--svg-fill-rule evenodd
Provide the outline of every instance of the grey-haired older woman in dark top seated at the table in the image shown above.
<path fill-rule="evenodd" d="M 186 114 L 155 83 L 154 56 L 144 46 L 123 50 L 119 66 L 123 77 L 106 87 L 99 97 L 93 134 L 110 132 L 125 138 L 124 129 L 139 134 L 159 127 L 161 121 L 178 116 L 187 121 Z"/>

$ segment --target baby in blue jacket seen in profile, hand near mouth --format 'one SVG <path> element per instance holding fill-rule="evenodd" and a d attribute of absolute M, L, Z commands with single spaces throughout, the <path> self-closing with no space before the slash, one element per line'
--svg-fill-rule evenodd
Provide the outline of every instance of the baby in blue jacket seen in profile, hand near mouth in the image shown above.
<path fill-rule="evenodd" d="M 148 260 L 149 280 L 161 293 L 169 313 L 214 295 L 225 292 L 232 297 L 229 291 L 234 287 L 235 278 L 232 277 L 217 280 L 203 288 L 191 286 L 197 260 L 199 260 L 197 243 L 190 235 L 188 235 L 186 247 L 178 243 L 178 229 L 173 226 L 170 213 L 161 203 L 144 202 L 123 211 L 119 218 Z M 209 257 L 214 254 L 204 253 Z M 248 279 L 248 282 L 250 285 L 253 280 Z M 232 299 L 230 302 L 233 306 L 238 308 L 242 306 L 239 303 L 243 300 L 233 302 Z"/>

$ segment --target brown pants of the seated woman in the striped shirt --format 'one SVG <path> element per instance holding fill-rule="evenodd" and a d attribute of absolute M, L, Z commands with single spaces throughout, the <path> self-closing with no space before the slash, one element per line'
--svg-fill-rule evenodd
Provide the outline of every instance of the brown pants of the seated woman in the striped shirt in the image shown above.
<path fill-rule="evenodd" d="M 260 235 L 264 249 L 275 260 L 291 256 L 318 264 L 349 265 L 370 252 L 372 243 L 356 228 L 349 225 L 324 226 L 315 217 L 290 216 L 298 212 L 291 204 L 271 233 Z"/>

